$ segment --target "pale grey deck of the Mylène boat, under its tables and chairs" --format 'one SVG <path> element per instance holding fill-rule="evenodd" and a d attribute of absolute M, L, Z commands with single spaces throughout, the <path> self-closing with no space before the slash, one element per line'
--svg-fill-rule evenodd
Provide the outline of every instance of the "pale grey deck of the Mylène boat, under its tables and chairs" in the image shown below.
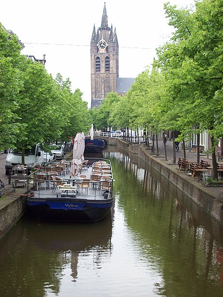
<path fill-rule="evenodd" d="M 112 167 L 111 167 L 112 170 Z M 112 191 L 113 191 L 113 176 L 108 176 L 110 189 L 109 191 L 106 189 L 101 188 L 103 185 L 103 181 L 100 180 L 99 182 L 95 182 L 92 180 L 92 167 L 86 167 L 82 172 L 79 173 L 78 177 L 70 177 L 69 170 L 62 175 L 58 175 L 61 178 L 63 185 L 56 185 L 55 182 L 48 179 L 47 172 L 42 171 L 39 174 L 46 175 L 44 180 L 36 179 L 36 175 L 34 175 L 34 179 L 29 181 L 29 184 L 33 184 L 33 193 L 34 199 L 40 199 L 40 201 L 44 200 L 51 200 L 55 198 L 61 198 L 66 200 L 72 199 L 80 199 L 80 200 L 104 200 L 112 198 Z M 86 176 L 85 178 L 80 177 Z M 103 177 L 106 174 L 103 174 Z M 82 184 L 85 180 L 90 180 L 88 183 L 88 188 L 83 188 Z M 106 193 L 106 194 L 104 194 Z"/>

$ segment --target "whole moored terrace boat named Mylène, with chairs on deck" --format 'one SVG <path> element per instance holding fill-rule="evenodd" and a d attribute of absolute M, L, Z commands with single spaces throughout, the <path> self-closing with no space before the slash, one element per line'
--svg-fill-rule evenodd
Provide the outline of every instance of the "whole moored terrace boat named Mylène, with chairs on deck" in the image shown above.
<path fill-rule="evenodd" d="M 110 161 L 84 160 L 78 176 L 71 175 L 70 165 L 71 161 L 58 160 L 29 176 L 29 186 L 31 183 L 33 188 L 27 205 L 34 218 L 97 222 L 109 213 L 114 202 Z"/>

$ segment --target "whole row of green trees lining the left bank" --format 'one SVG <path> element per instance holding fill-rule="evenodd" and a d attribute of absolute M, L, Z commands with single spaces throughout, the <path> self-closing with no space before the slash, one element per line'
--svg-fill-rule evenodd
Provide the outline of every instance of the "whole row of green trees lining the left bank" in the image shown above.
<path fill-rule="evenodd" d="M 0 23 L 0 150 L 68 141 L 89 131 L 87 102 L 69 79 L 21 55 L 15 35 Z"/>

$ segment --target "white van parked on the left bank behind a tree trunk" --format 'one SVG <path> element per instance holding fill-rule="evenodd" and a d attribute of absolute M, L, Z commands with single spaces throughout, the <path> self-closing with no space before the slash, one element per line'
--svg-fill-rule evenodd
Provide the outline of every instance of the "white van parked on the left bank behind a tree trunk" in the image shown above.
<path fill-rule="evenodd" d="M 40 145 L 36 144 L 30 149 L 25 149 L 25 166 L 28 172 L 30 172 L 31 167 L 44 163 L 44 151 L 41 150 Z M 22 152 L 20 149 L 9 149 L 6 157 L 6 175 L 9 175 L 9 170 L 18 164 L 22 164 Z"/>

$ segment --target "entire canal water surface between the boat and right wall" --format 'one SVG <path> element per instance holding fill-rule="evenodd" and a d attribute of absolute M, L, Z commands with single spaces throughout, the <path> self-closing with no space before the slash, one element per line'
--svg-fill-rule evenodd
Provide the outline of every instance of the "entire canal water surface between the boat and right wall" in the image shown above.
<path fill-rule="evenodd" d="M 95 224 L 25 216 L 0 242 L 0 296 L 222 297 L 223 229 L 137 155 L 109 148 L 115 204 Z"/>

